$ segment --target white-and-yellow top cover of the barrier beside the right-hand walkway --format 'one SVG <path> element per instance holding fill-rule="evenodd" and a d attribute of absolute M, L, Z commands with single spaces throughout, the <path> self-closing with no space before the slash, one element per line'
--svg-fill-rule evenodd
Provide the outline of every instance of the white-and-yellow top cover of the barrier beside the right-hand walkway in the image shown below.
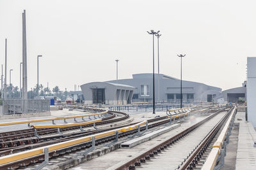
<path fill-rule="evenodd" d="M 218 156 L 220 155 L 220 150 L 225 141 L 225 136 L 227 135 L 229 124 L 232 120 L 232 117 L 234 116 L 235 111 L 236 111 L 236 107 L 234 108 L 234 110 L 232 110 L 232 113 L 230 114 L 230 117 L 228 118 L 227 123 L 223 127 L 223 129 L 220 133 L 220 136 L 218 137 L 218 139 L 212 146 L 212 150 L 209 153 L 209 156 L 207 157 L 207 160 L 205 161 L 204 166 L 202 167 L 202 170 L 214 169 L 216 160 L 218 159 Z"/>

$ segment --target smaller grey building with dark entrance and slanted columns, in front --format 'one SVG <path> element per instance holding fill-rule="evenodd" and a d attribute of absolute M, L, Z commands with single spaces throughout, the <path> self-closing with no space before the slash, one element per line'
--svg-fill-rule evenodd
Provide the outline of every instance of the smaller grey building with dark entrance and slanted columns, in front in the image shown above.
<path fill-rule="evenodd" d="M 81 85 L 84 104 L 130 104 L 135 90 L 129 85 L 109 82 L 92 82 Z"/>

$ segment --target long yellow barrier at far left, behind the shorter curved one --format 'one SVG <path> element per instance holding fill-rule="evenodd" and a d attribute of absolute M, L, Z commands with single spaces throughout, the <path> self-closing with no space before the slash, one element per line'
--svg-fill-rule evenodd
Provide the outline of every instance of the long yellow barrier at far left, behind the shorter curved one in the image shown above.
<path fill-rule="evenodd" d="M 63 120 L 68 118 L 79 118 L 79 117 L 91 117 L 96 115 L 104 115 L 108 113 L 108 111 L 103 111 L 100 113 L 94 113 L 94 114 L 87 114 L 87 115 L 78 115 L 78 116 L 72 116 L 72 117 L 55 117 L 55 118 L 45 118 L 45 119 L 38 119 L 38 120 L 24 120 L 19 122 L 6 122 L 6 123 L 0 123 L 0 126 L 3 125 L 17 125 L 17 124 L 30 124 L 34 122 L 45 122 L 45 121 L 52 121 L 52 120 Z"/>

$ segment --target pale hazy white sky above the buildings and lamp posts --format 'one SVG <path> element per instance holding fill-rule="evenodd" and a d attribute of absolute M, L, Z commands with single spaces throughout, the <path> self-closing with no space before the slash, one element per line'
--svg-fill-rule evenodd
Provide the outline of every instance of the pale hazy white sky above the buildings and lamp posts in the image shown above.
<path fill-rule="evenodd" d="M 160 73 L 223 90 L 241 86 L 246 57 L 256 56 L 256 1 L 11 1 L 0 0 L 0 63 L 8 38 L 8 73 L 19 86 L 22 11 L 26 10 L 28 87 L 39 81 L 74 90 L 74 84 L 152 73 L 152 36 L 161 31 Z M 156 42 L 156 41 L 155 41 Z M 156 51 L 157 66 L 157 51 Z M 157 67 L 156 67 L 157 72 Z M 29 90 L 28 89 L 28 90 Z"/>

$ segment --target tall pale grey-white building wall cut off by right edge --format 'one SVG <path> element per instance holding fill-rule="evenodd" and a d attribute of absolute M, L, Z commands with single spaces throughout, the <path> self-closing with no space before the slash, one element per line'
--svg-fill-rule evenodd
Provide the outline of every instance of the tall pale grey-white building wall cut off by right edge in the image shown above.
<path fill-rule="evenodd" d="M 247 58 L 247 111 L 248 121 L 256 127 L 256 57 Z"/>

